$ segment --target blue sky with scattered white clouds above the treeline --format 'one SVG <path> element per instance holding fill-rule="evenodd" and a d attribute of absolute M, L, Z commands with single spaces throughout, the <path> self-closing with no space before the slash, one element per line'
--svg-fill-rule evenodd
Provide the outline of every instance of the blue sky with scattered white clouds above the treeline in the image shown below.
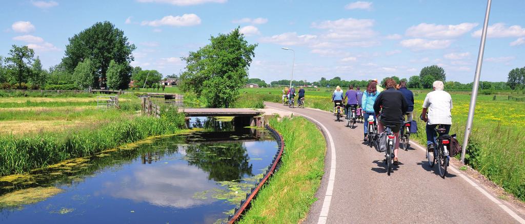
<path fill-rule="evenodd" d="M 112 0 L 0 1 L 0 55 L 12 44 L 60 63 L 68 38 L 98 21 L 124 31 L 133 66 L 164 76 L 188 52 L 236 27 L 258 43 L 249 77 L 267 82 L 382 79 L 439 65 L 447 81 L 474 80 L 486 1 Z M 525 1 L 493 1 L 482 81 L 507 81 L 525 66 Z M 286 47 L 294 51 L 282 50 Z"/>

